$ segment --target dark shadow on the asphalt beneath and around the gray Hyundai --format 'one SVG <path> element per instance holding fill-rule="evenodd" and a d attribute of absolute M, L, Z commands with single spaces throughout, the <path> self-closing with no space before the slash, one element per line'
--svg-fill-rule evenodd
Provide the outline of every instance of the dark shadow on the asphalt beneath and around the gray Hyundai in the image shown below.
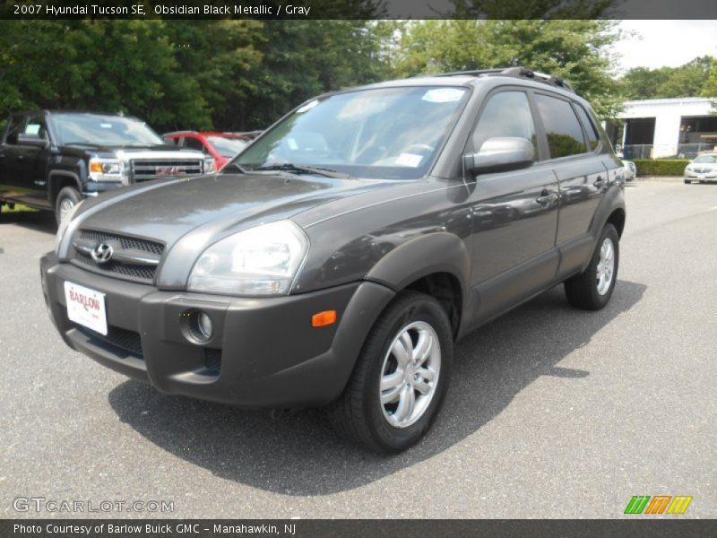
<path fill-rule="evenodd" d="M 464 338 L 433 430 L 398 456 L 350 446 L 334 435 L 320 410 L 272 421 L 268 412 L 161 395 L 133 380 L 112 390 L 109 404 L 143 437 L 220 478 L 299 496 L 352 490 L 460 443 L 540 376 L 588 377 L 586 370 L 556 365 L 632 308 L 645 289 L 618 281 L 606 308 L 586 312 L 570 308 L 558 286 Z"/>

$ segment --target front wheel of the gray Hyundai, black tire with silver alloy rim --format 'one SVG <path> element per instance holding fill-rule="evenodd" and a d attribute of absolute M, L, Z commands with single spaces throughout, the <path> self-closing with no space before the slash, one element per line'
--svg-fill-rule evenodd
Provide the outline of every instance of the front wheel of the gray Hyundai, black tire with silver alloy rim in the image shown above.
<path fill-rule="evenodd" d="M 418 345 L 415 356 L 400 353 L 403 360 L 409 356 L 423 360 L 409 360 L 401 366 L 393 349 L 407 349 L 402 335 L 408 335 L 412 344 L 432 343 L 428 349 L 420 345 L 425 353 L 419 352 Z M 379 454 L 395 454 L 416 444 L 445 399 L 453 344 L 451 324 L 436 299 L 418 291 L 400 293 L 371 329 L 348 385 L 327 410 L 334 429 L 341 437 Z M 421 363 L 423 366 L 417 367 Z M 427 370 L 432 372 L 432 380 Z M 414 371 L 417 373 L 411 376 Z M 391 402 L 382 402 L 382 380 L 388 383 L 383 395 Z M 413 411 L 409 413 L 409 409 Z"/>

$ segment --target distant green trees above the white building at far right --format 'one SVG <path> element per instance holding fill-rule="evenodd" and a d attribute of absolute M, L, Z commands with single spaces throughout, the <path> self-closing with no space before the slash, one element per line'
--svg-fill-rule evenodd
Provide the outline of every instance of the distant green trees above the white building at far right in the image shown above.
<path fill-rule="evenodd" d="M 626 98 L 631 100 L 715 97 L 717 88 L 711 90 L 709 82 L 717 81 L 714 62 L 713 57 L 702 56 L 679 67 L 635 67 L 620 79 L 620 85 Z M 712 96 L 707 95 L 710 91 Z"/>

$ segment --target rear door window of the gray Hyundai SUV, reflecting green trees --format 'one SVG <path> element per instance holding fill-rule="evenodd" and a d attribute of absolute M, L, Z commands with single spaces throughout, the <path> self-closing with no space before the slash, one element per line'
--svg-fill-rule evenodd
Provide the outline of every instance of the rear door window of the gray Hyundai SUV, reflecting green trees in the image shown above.
<path fill-rule="evenodd" d="M 535 95 L 535 103 L 548 136 L 551 159 L 587 151 L 583 128 L 569 102 L 538 93 Z"/>

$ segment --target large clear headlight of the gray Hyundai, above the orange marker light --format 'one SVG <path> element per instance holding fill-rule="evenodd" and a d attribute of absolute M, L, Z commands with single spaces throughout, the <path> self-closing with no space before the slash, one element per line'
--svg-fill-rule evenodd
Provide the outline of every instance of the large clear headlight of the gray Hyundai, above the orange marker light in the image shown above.
<path fill-rule="evenodd" d="M 307 252 L 307 236 L 292 221 L 240 231 L 199 256 L 187 289 L 225 295 L 287 295 Z"/>

